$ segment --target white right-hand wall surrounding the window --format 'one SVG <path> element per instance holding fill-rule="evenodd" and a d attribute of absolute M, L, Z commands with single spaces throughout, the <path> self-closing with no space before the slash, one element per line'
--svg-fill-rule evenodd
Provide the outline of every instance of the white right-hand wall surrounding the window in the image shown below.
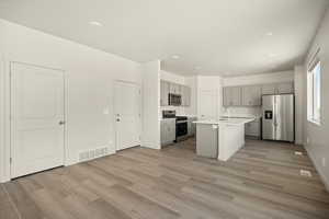
<path fill-rule="evenodd" d="M 304 115 L 305 120 L 305 146 L 314 161 L 318 172 L 326 183 L 329 191 L 329 11 L 320 25 L 317 36 L 311 45 L 308 54 L 305 67 L 310 60 L 310 56 L 320 47 L 319 58 L 321 61 L 321 105 L 322 105 L 322 118 L 321 126 L 317 126 L 307 122 L 307 114 Z M 306 71 L 304 71 L 304 79 L 306 78 Z M 306 80 L 304 83 L 304 91 L 306 93 Z M 307 103 L 306 95 L 304 101 Z M 307 104 L 304 106 L 304 112 L 307 112 Z M 307 138 L 309 141 L 307 142 Z M 324 165 L 326 161 L 326 165 Z"/>

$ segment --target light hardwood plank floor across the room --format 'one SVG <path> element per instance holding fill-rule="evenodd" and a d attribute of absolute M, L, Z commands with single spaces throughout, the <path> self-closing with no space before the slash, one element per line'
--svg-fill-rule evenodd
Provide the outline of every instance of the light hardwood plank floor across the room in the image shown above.
<path fill-rule="evenodd" d="M 329 218 L 329 194 L 298 146 L 249 140 L 228 162 L 198 158 L 193 139 L 0 185 L 1 219 Z M 313 177 L 299 175 L 309 170 Z"/>

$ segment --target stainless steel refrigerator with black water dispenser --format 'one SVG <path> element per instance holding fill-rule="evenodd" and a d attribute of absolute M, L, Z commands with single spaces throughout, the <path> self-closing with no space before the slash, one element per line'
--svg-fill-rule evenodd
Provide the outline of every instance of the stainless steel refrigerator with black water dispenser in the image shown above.
<path fill-rule="evenodd" d="M 262 96 L 262 138 L 295 141 L 294 94 Z"/>

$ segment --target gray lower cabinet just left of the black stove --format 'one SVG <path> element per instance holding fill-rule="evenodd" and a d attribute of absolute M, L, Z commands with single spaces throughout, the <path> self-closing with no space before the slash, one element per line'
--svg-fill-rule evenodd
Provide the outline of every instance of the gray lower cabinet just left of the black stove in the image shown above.
<path fill-rule="evenodd" d="M 161 146 L 172 143 L 175 140 L 175 118 L 161 120 Z"/>

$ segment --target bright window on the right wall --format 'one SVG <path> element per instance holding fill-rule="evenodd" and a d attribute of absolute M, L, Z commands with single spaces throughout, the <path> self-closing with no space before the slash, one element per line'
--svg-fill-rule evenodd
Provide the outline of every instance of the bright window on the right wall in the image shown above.
<path fill-rule="evenodd" d="M 321 124 L 321 62 L 315 59 L 307 76 L 307 118 Z"/>

